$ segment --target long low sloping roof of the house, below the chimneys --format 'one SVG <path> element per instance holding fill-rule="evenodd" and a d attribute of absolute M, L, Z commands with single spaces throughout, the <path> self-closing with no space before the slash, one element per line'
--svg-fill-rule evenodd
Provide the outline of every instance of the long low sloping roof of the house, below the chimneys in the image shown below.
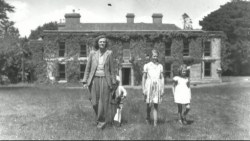
<path fill-rule="evenodd" d="M 175 24 L 152 24 L 152 23 L 81 23 L 79 25 L 59 25 L 59 30 L 81 31 L 143 31 L 143 30 L 181 30 Z"/>

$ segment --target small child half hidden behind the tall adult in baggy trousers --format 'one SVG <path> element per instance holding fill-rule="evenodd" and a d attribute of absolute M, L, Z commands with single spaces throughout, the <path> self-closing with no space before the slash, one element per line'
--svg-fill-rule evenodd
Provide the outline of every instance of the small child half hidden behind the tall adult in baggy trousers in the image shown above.
<path fill-rule="evenodd" d="M 120 84 L 120 77 L 116 76 L 117 87 L 115 90 L 115 104 L 116 104 L 116 114 L 114 116 L 114 121 L 118 122 L 118 126 L 121 126 L 121 113 L 123 108 L 123 102 L 127 96 L 127 91 Z"/>

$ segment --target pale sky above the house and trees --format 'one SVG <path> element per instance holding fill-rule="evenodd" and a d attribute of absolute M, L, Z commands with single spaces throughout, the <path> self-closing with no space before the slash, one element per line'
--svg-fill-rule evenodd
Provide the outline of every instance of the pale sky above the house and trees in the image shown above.
<path fill-rule="evenodd" d="M 193 28 L 201 29 L 199 21 L 231 0 L 5 0 L 15 7 L 8 13 L 21 37 L 49 22 L 64 21 L 65 13 L 81 14 L 81 23 L 126 23 L 126 14 L 135 14 L 135 23 L 152 23 L 153 13 L 163 14 L 163 23 L 183 28 L 182 14 L 192 19 Z M 108 6 L 108 4 L 112 6 Z"/>

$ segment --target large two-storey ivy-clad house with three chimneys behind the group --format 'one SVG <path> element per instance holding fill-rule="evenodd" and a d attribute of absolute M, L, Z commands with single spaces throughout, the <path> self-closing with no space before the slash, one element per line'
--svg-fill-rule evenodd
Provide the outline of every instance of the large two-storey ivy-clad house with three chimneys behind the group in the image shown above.
<path fill-rule="evenodd" d="M 182 30 L 175 24 L 162 23 L 160 13 L 152 15 L 152 23 L 135 23 L 133 13 L 126 15 L 127 23 L 81 23 L 80 18 L 79 13 L 67 13 L 58 30 L 43 33 L 43 59 L 51 81 L 82 79 L 95 37 L 105 34 L 122 85 L 140 85 L 142 67 L 153 48 L 160 52 L 166 81 L 176 75 L 181 63 L 186 63 L 191 82 L 221 82 L 223 32 Z"/>

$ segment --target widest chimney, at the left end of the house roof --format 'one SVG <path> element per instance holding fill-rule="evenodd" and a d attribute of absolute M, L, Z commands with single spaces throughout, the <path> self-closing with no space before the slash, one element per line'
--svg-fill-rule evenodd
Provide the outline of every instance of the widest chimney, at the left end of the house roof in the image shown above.
<path fill-rule="evenodd" d="M 81 15 L 79 13 L 75 13 L 75 11 L 73 11 L 73 13 L 65 14 L 64 17 L 66 26 L 74 26 L 76 24 L 80 24 Z"/>

